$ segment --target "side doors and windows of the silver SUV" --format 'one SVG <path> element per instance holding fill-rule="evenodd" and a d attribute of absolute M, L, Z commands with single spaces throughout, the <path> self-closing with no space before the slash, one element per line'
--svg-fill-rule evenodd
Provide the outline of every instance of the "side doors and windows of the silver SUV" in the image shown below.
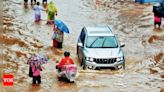
<path fill-rule="evenodd" d="M 77 52 L 78 52 L 80 62 L 82 62 L 82 59 L 83 59 L 85 37 L 86 37 L 86 32 L 85 32 L 85 29 L 83 28 L 80 33 L 79 40 L 78 40 L 78 43 L 82 43 L 82 46 L 77 46 Z"/>

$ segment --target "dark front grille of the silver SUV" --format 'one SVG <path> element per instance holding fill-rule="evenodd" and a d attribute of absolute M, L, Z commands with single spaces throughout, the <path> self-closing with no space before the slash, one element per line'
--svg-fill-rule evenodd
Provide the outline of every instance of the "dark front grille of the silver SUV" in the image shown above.
<path fill-rule="evenodd" d="M 110 59 L 94 59 L 94 62 L 98 64 L 113 64 L 116 62 L 116 58 L 110 58 Z"/>

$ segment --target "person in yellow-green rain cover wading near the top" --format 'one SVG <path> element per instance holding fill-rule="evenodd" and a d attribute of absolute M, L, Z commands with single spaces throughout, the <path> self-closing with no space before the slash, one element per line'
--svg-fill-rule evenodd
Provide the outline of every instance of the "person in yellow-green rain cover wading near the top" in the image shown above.
<path fill-rule="evenodd" d="M 55 19 L 55 15 L 57 16 L 58 14 L 57 8 L 54 5 L 53 1 L 51 1 L 48 4 L 47 13 L 48 13 L 47 24 L 52 24 L 52 21 Z"/>

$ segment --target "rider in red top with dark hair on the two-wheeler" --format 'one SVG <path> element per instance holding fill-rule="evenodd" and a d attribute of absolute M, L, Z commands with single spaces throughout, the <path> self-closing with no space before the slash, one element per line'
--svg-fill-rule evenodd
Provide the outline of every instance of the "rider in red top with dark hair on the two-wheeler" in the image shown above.
<path fill-rule="evenodd" d="M 64 65 L 69 65 L 69 64 L 74 64 L 73 60 L 69 57 L 70 53 L 69 52 L 64 52 L 64 58 L 61 59 L 59 64 L 57 65 L 58 69 L 61 69 Z"/>

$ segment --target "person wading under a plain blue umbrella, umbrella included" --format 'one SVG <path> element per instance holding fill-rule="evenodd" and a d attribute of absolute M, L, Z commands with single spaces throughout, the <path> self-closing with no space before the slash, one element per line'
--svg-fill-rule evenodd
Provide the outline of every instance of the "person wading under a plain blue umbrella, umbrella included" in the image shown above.
<path fill-rule="evenodd" d="M 54 20 L 54 34 L 53 36 L 53 46 L 57 42 L 57 48 L 62 48 L 64 32 L 69 33 L 68 27 L 61 20 Z M 55 41 L 54 41 L 55 40 Z"/>

